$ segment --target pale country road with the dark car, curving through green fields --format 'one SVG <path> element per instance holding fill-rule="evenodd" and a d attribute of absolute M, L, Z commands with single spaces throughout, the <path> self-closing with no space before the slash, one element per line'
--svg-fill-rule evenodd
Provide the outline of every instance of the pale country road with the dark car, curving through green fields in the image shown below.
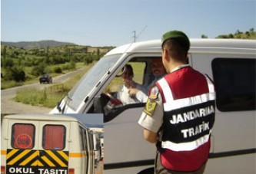
<path fill-rule="evenodd" d="M 82 71 L 82 69 L 78 69 L 77 71 L 71 71 L 67 74 L 62 74 L 57 77 L 53 77 L 53 84 L 27 84 L 22 87 L 12 87 L 7 90 L 1 90 L 1 113 L 49 113 L 52 108 L 47 107 L 34 107 L 32 105 L 18 103 L 12 100 L 19 90 L 24 89 L 44 89 L 44 87 L 48 87 L 54 84 L 62 83 L 65 80 L 68 80 L 70 77 L 78 74 L 78 72 Z"/>

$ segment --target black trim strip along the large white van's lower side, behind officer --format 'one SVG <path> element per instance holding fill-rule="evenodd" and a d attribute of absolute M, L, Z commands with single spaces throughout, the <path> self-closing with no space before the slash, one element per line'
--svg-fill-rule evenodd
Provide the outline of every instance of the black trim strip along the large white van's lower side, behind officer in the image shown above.
<path fill-rule="evenodd" d="M 223 153 L 210 153 L 209 158 L 221 158 L 221 157 L 228 157 L 228 156 L 239 156 L 239 155 L 246 155 L 250 153 L 256 153 L 256 149 L 241 149 L 241 150 L 234 150 L 229 152 Z M 154 165 L 155 159 L 148 159 L 143 161 L 131 161 L 131 162 L 124 162 L 124 163 L 111 163 L 105 164 L 104 169 L 120 169 L 120 168 L 128 168 L 128 167 L 138 167 L 138 166 L 149 166 Z"/>

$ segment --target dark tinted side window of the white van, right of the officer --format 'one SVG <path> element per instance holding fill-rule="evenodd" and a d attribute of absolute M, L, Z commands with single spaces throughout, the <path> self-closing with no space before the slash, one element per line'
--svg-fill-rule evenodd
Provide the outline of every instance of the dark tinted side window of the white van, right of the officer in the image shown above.
<path fill-rule="evenodd" d="M 255 110 L 255 64 L 255 59 L 245 58 L 212 61 L 218 110 Z"/>

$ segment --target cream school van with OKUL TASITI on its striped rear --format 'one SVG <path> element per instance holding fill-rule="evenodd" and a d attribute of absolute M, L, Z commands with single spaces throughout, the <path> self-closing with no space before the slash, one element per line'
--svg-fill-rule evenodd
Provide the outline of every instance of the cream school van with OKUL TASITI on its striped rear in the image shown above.
<path fill-rule="evenodd" d="M 93 134 L 77 119 L 43 114 L 2 119 L 2 174 L 94 174 Z"/>

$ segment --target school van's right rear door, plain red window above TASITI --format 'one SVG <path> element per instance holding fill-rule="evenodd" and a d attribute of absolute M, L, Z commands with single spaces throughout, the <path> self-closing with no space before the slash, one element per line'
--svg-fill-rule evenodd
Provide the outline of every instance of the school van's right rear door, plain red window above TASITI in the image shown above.
<path fill-rule="evenodd" d="M 68 173 L 70 123 L 39 123 L 38 173 Z"/>

